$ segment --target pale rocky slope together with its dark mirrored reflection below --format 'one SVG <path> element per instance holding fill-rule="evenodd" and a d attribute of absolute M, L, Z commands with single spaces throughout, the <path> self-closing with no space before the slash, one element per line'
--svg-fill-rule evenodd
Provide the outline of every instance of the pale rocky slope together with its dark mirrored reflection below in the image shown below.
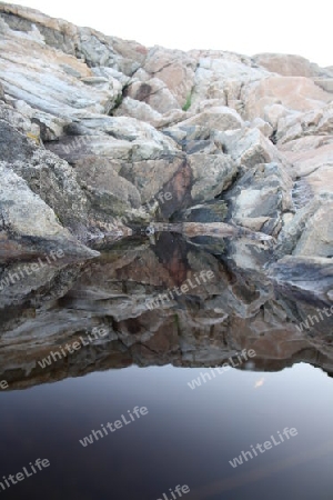
<path fill-rule="evenodd" d="M 258 370 L 333 373 L 332 319 L 297 328 L 333 306 L 333 67 L 147 48 L 0 3 L 0 380 L 239 349 Z M 202 270 L 214 279 L 147 308 Z"/>

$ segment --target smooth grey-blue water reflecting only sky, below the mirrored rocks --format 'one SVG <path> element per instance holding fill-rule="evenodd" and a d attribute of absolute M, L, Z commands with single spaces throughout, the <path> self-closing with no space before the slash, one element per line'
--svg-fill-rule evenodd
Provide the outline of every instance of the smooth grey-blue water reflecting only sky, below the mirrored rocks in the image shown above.
<path fill-rule="evenodd" d="M 306 363 L 231 368 L 191 389 L 209 372 L 131 366 L 2 391 L 1 476 L 38 458 L 50 462 L 17 484 L 8 480 L 3 498 L 172 500 L 186 484 L 189 499 L 331 499 L 332 378 Z M 119 419 L 122 427 L 93 437 Z M 285 428 L 297 433 L 286 439 Z M 82 446 L 89 436 L 93 442 Z M 255 456 L 251 446 L 266 441 L 272 447 Z M 252 458 L 232 467 L 242 451 Z"/>

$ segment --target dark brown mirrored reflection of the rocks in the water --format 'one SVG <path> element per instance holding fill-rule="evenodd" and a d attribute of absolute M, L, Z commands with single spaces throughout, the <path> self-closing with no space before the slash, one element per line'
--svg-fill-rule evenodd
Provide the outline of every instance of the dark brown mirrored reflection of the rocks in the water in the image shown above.
<path fill-rule="evenodd" d="M 297 290 L 295 301 L 286 287 L 280 290 L 281 277 L 271 280 L 263 270 L 268 252 L 246 247 L 245 253 L 240 242 L 235 247 L 230 246 L 226 259 L 216 242 L 203 250 L 163 233 L 154 246 L 122 241 L 99 259 L 61 262 L 18 283 L 2 292 L 0 380 L 16 389 L 131 363 L 209 367 L 242 349 L 256 351 L 255 370 L 304 361 L 333 373 L 333 317 L 303 332 L 296 328 L 329 303 L 327 293 L 310 301 Z M 147 299 L 202 270 L 213 271 L 214 279 L 162 308 L 147 309 Z M 105 326 L 109 334 L 44 369 L 38 364 L 97 326 Z"/>

